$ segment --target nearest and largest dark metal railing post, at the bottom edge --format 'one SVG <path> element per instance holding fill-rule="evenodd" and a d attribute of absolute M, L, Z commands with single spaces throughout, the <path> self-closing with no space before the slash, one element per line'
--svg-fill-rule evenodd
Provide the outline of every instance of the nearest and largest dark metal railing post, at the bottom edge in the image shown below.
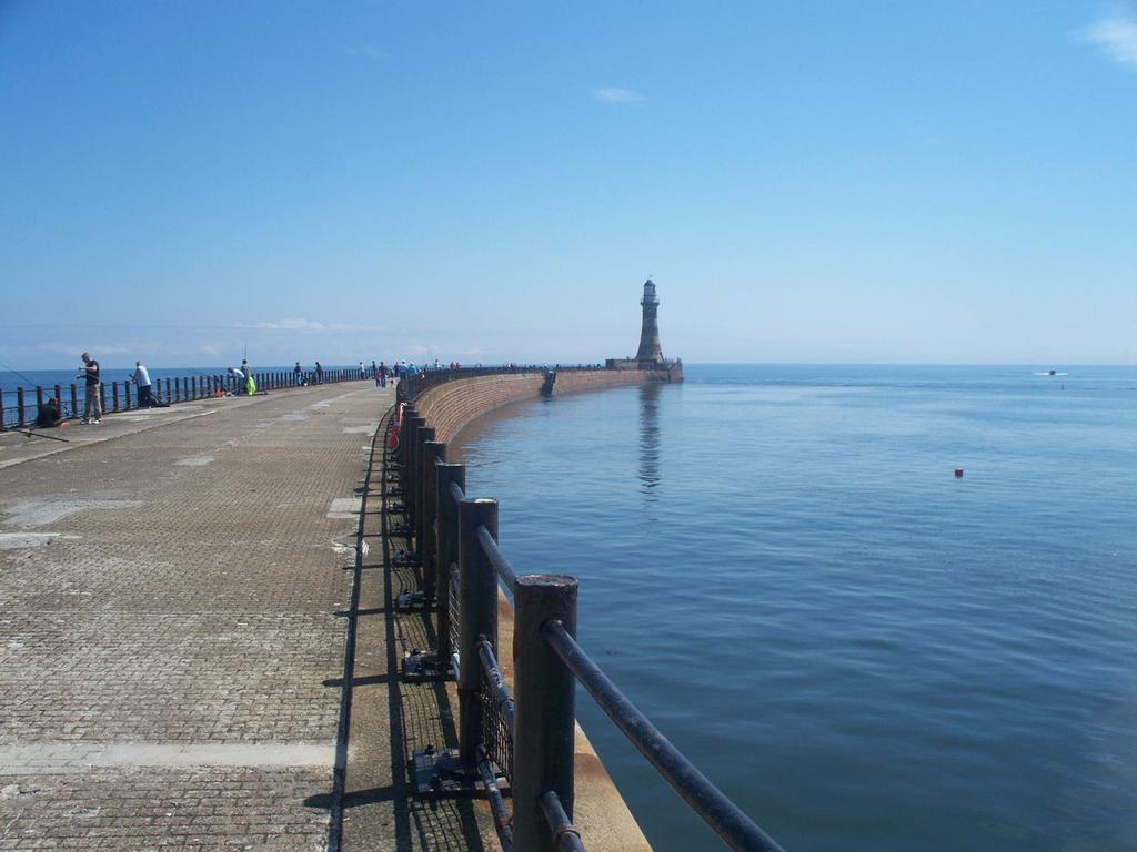
<path fill-rule="evenodd" d="M 576 682 L 541 635 L 541 625 L 561 621 L 575 637 L 576 580 L 532 574 L 517 578 L 513 594 L 514 847 L 555 852 L 540 800 L 555 792 L 572 819 Z"/>

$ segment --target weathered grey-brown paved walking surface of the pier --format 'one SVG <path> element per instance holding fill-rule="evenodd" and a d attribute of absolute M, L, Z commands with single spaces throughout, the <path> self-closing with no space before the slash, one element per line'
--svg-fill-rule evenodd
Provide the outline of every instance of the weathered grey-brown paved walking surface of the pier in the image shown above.
<path fill-rule="evenodd" d="M 484 803 L 408 778 L 455 702 L 396 676 L 432 633 L 390 607 L 416 582 L 384 534 L 392 401 L 343 383 L 0 436 L 0 850 L 497 849 Z M 580 751 L 589 849 L 647 849 Z"/>

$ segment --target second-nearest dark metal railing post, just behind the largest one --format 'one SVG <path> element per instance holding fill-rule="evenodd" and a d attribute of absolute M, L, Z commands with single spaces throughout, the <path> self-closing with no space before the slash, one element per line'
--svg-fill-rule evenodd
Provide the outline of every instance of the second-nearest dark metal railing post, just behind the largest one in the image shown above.
<path fill-rule="evenodd" d="M 497 538 L 497 500 L 463 500 L 458 504 L 458 760 L 466 769 L 478 766 L 482 732 L 479 636 L 489 640 L 497 653 L 497 577 L 478 541 L 483 526 Z"/>

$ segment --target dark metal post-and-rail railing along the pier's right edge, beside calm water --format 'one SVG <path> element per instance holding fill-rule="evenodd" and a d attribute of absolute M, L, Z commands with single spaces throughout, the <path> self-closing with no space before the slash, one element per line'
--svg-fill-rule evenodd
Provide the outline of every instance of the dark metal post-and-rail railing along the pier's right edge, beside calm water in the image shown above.
<path fill-rule="evenodd" d="M 462 375 L 468 375 L 466 370 Z M 420 385 L 420 387 L 422 387 Z M 464 465 L 414 406 L 402 408 L 397 466 L 423 588 L 437 611 L 435 657 L 458 687 L 458 761 L 481 779 L 503 849 L 581 852 L 572 825 L 579 682 L 658 774 L 732 850 L 781 847 L 717 790 L 576 643 L 576 580 L 520 574 L 498 545 L 498 503 L 466 494 Z M 497 665 L 498 584 L 514 603 L 514 692 Z M 512 815 L 499 780 L 508 785 Z"/>

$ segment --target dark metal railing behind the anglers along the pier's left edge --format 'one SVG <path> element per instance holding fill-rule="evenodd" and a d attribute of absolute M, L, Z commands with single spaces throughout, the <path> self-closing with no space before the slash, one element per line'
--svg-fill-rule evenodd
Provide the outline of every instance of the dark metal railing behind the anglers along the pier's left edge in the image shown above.
<path fill-rule="evenodd" d="M 330 368 L 322 370 L 318 376 L 312 371 L 301 374 L 301 378 L 307 381 L 308 384 L 334 384 L 338 382 L 371 378 L 370 374 L 370 370 L 359 370 L 358 368 Z M 301 382 L 297 379 L 297 375 L 291 370 L 254 373 L 252 378 L 257 383 L 258 391 L 276 391 L 287 387 L 299 387 L 301 385 Z M 164 407 L 164 404 L 193 402 L 214 396 L 239 395 L 244 393 L 243 383 L 244 381 L 236 376 L 222 374 L 166 376 L 155 378 L 150 385 L 150 392 L 151 396 L 158 398 Z M 100 407 L 103 414 L 149 408 L 149 406 L 139 406 L 138 389 L 130 382 L 102 382 L 96 386 L 98 387 Z M 59 401 L 60 419 L 76 420 L 83 416 L 88 393 L 90 391 L 85 383 L 50 386 L 36 385 L 34 387 L 16 387 L 11 391 L 3 391 L 3 404 L 0 404 L 0 431 L 33 427 L 40 410 L 52 396 Z"/>

